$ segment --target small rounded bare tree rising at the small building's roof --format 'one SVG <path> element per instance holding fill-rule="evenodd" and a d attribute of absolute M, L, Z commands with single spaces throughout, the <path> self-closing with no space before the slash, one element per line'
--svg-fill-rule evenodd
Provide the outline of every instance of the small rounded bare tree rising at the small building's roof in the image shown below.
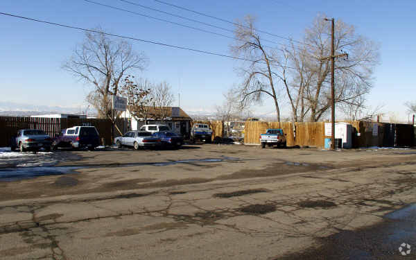
<path fill-rule="evenodd" d="M 166 120 L 168 110 L 175 101 L 171 86 L 166 81 L 155 85 L 152 89 L 153 107 L 155 109 L 155 117 L 161 121 Z"/>

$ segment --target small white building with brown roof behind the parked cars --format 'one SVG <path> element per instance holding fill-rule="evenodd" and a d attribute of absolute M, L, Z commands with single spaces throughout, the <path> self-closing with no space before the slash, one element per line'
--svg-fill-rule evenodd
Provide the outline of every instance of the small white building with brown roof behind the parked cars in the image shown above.
<path fill-rule="evenodd" d="M 168 125 L 173 132 L 184 136 L 190 136 L 191 117 L 180 107 L 164 107 L 163 111 L 160 107 L 146 107 L 146 119 L 130 114 L 129 110 L 121 113 L 121 118 L 128 118 L 131 122 L 131 130 L 139 130 L 141 125 L 163 124 Z M 163 116 L 162 116 L 163 114 Z"/>

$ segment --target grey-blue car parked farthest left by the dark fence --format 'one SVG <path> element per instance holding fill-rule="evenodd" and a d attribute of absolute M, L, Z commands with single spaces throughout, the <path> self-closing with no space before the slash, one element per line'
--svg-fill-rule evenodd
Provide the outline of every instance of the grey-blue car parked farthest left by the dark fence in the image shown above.
<path fill-rule="evenodd" d="M 22 129 L 17 131 L 16 137 L 12 137 L 10 142 L 11 150 L 19 148 L 21 152 L 26 150 L 37 151 L 44 148 L 46 151 L 51 150 L 51 137 L 43 130 Z"/>

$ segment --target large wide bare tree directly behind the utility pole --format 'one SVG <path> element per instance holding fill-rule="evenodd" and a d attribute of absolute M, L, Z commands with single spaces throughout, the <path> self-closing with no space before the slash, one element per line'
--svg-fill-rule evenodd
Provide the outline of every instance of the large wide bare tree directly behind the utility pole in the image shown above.
<path fill-rule="evenodd" d="M 293 55 L 289 56 L 297 70 L 293 83 L 297 89 L 302 89 L 299 98 L 307 101 L 303 111 L 309 112 L 311 121 L 320 120 L 331 107 L 331 66 L 329 60 L 324 59 L 331 53 L 330 23 L 324 21 L 324 17 L 318 15 L 314 19 L 312 26 L 306 29 L 301 51 L 298 49 L 296 54 L 296 48 L 292 48 Z M 348 59 L 336 61 L 335 101 L 349 103 L 370 92 L 373 69 L 379 63 L 379 47 L 356 34 L 354 26 L 340 19 L 336 21 L 335 34 L 336 54 L 348 53 Z"/>

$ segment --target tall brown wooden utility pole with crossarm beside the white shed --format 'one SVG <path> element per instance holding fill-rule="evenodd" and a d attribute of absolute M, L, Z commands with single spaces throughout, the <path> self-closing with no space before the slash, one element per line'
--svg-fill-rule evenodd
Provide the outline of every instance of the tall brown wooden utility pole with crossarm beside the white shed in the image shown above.
<path fill-rule="evenodd" d="M 331 55 L 321 58 L 320 60 L 331 59 L 331 150 L 335 150 L 335 58 L 347 56 L 347 53 L 335 55 L 335 19 L 325 18 L 325 21 L 331 21 Z"/>

